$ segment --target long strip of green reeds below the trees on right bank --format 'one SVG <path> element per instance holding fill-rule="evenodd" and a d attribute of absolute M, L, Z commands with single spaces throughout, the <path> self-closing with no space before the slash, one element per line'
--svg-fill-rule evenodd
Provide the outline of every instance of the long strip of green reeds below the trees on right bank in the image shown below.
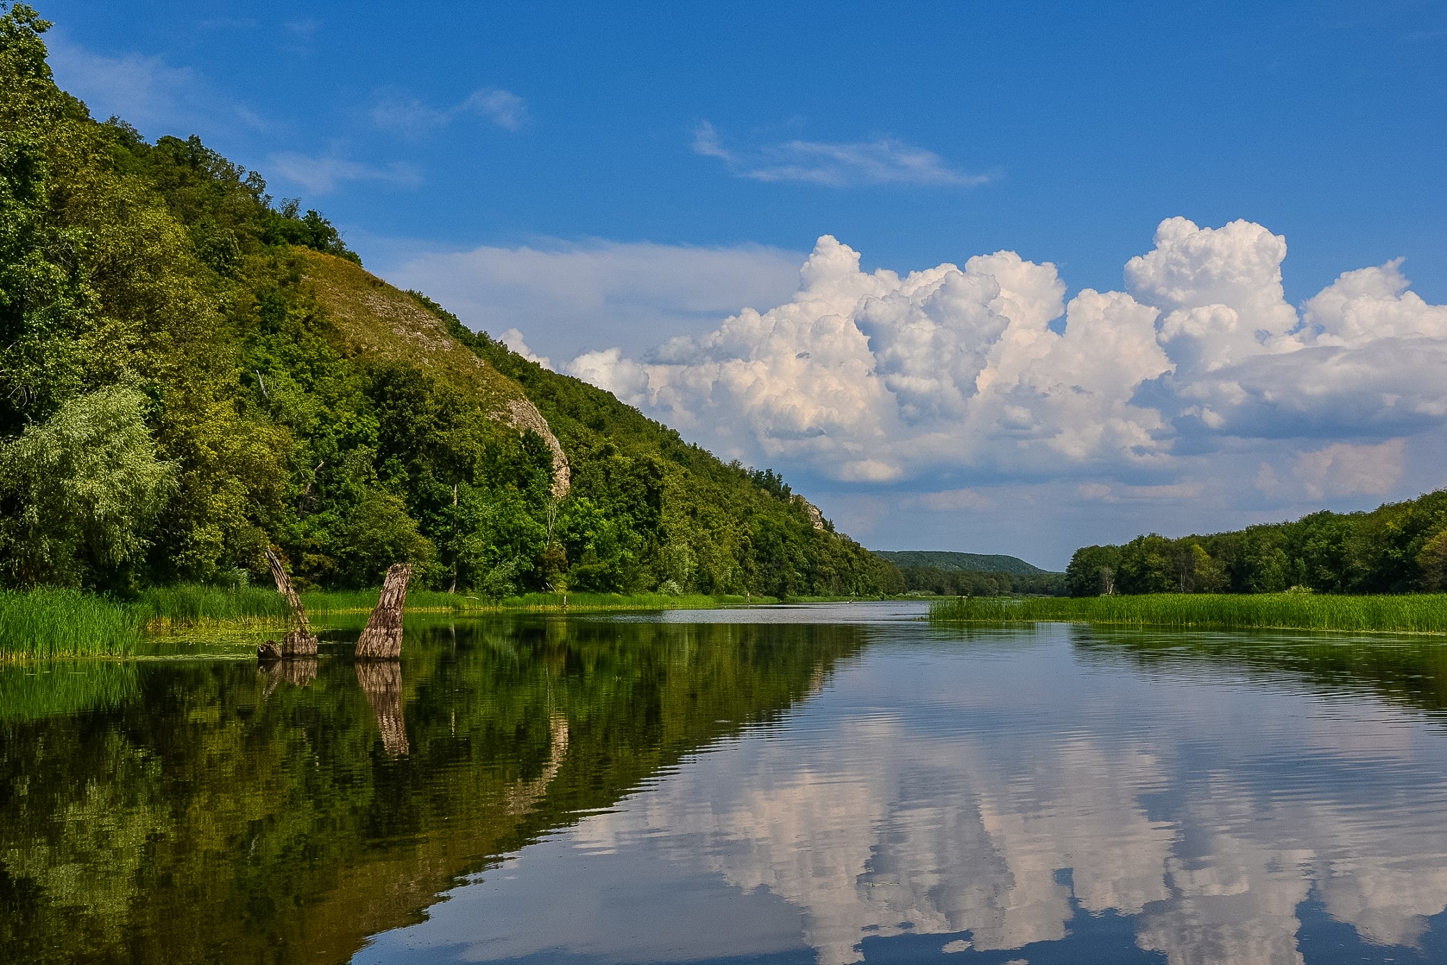
<path fill-rule="evenodd" d="M 1447 593 L 1330 596 L 1317 593 L 1150 593 L 1013 599 L 952 598 L 929 609 L 938 622 L 1069 622 L 1217 629 L 1330 629 L 1447 634 Z"/>

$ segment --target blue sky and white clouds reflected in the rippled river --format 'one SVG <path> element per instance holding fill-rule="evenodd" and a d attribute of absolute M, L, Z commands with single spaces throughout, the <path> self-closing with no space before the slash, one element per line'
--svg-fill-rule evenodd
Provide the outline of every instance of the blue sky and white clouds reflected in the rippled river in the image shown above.
<path fill-rule="evenodd" d="M 1447 961 L 1440 715 L 1139 634 L 873 638 L 355 961 Z"/>

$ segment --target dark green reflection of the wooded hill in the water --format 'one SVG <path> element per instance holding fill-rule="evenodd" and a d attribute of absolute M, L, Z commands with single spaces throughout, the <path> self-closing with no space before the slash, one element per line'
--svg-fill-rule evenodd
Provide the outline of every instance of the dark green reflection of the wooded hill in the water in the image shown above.
<path fill-rule="evenodd" d="M 389 668 L 142 663 L 114 705 L 0 720 L 0 787 L 26 787 L 0 796 L 0 961 L 346 959 L 864 642 L 553 618 L 407 639 Z"/>

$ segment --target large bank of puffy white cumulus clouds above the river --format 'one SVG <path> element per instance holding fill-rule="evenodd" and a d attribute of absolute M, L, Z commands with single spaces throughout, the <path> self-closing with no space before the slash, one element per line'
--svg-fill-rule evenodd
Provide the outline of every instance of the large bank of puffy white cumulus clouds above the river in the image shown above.
<path fill-rule="evenodd" d="M 1101 488 L 1085 499 L 1184 499 L 1201 489 L 1182 473 L 1221 451 L 1247 486 L 1268 456 L 1283 476 L 1257 490 L 1273 498 L 1388 492 L 1401 444 L 1354 453 L 1447 424 L 1447 307 L 1389 262 L 1298 313 L 1285 256 L 1259 224 L 1168 218 L 1127 291 L 1066 304 L 1055 266 L 1014 252 L 864 272 L 823 236 L 787 301 L 567 370 L 726 456 L 839 482 L 1075 476 Z"/>

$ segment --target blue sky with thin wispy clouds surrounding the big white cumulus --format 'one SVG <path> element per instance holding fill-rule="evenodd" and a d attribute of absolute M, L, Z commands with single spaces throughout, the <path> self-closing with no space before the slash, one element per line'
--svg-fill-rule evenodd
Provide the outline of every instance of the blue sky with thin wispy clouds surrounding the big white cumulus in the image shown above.
<path fill-rule="evenodd" d="M 1260 353 L 1289 352 L 1315 372 L 1333 347 L 1378 356 L 1391 347 L 1343 334 L 1347 323 L 1320 321 L 1320 311 L 1315 323 L 1304 314 L 1341 272 L 1402 258 L 1395 271 L 1411 292 L 1428 307 L 1447 302 L 1443 4 L 71 0 L 39 9 L 58 25 L 58 80 L 93 113 L 127 117 L 149 137 L 200 133 L 259 169 L 276 197 L 323 210 L 373 271 L 424 286 L 493 334 L 517 330 L 514 339 L 554 367 L 632 392 L 725 454 L 781 467 L 870 545 L 1017 551 L 1061 564 L 1082 541 L 1375 505 L 1441 485 L 1435 396 L 1418 399 L 1405 421 L 1341 415 L 1281 428 L 1301 420 L 1257 412 L 1247 425 L 1226 402 L 1202 401 L 1220 389 L 1215 376 L 1185 385 L 1179 333 L 1188 323 L 1175 323 L 1175 347 L 1165 340 L 1171 311 L 1208 304 L 1234 305 L 1240 318 L 1265 311 L 1276 321 L 1239 327 L 1286 339 L 1291 324 L 1272 315 L 1283 301 L 1298 313 L 1295 341 L 1259 336 Z M 1285 237 L 1285 260 L 1257 265 L 1266 288 L 1279 271 L 1275 307 L 1221 294 L 1213 288 L 1220 276 L 1184 299 L 1163 276 L 1127 279 L 1127 262 L 1159 252 L 1156 227 L 1172 217 L 1200 229 L 1244 220 L 1266 229 L 1260 237 Z M 874 443 L 854 433 L 858 414 L 833 412 L 831 422 L 805 412 L 780 427 L 741 409 L 742 389 L 702 398 L 699 353 L 715 365 L 726 341 L 709 341 L 710 333 L 744 307 L 768 317 L 789 301 L 799 266 L 826 234 L 857 252 L 865 273 L 1009 250 L 1053 263 L 1064 301 L 1124 285 L 1156 313 L 1172 370 L 1140 356 L 1120 376 L 1134 379 L 1117 399 L 1134 407 L 1129 418 L 1092 409 L 1049 422 L 1036 411 L 1030 435 L 1011 428 L 1017 414 L 1004 402 L 990 412 L 969 399 L 948 412 L 912 408 L 899 385 L 917 385 L 922 370 L 909 362 L 913 369 L 861 405 L 899 408 L 878 431 L 913 427 L 912 438 L 936 450 L 929 460 L 864 451 Z M 1259 247 L 1247 234 L 1194 234 L 1200 243 L 1179 240 L 1158 268 L 1214 271 L 1210 259 L 1182 268 L 1171 258 L 1189 260 L 1185 252 L 1213 245 L 1217 255 L 1236 243 Z M 1398 311 L 1401 292 L 1383 278 L 1375 276 L 1373 304 Z M 888 284 L 870 297 L 886 294 L 915 297 Z M 1085 318 L 1087 305 L 1079 311 Z M 1104 310 L 1098 324 L 1124 317 Z M 958 330 L 951 346 L 964 339 L 959 318 L 948 323 Z M 1421 318 L 1389 334 L 1437 339 L 1437 315 Z M 886 337 L 868 328 L 884 323 L 857 321 L 874 331 L 868 365 L 884 373 L 891 363 L 880 346 L 899 331 Z M 1325 343 L 1302 334 L 1312 324 Z M 1049 326 L 1065 330 L 1064 318 Z M 687 360 L 660 354 L 676 336 L 697 343 Z M 783 350 L 765 341 L 732 362 Z M 1247 366 L 1233 376 L 1247 394 L 1252 378 L 1268 379 L 1266 360 L 1226 341 L 1192 344 Z M 810 346 L 799 341 L 792 354 L 815 359 Z M 609 349 L 616 357 L 599 360 Z M 1052 356 L 1056 369 L 1079 367 L 1062 353 L 1068 344 Z M 802 379 L 805 395 L 820 391 L 818 372 L 770 378 Z M 1032 378 L 1030 392 L 1046 392 L 1046 375 Z M 1324 408 L 1357 411 L 1351 394 L 1369 389 L 1382 395 L 1380 386 L 1336 386 Z M 790 391 L 765 405 L 787 408 Z M 1147 404 L 1163 395 L 1172 402 Z M 1133 415 L 1142 408 L 1159 418 Z M 1111 443 L 1071 441 L 1100 434 L 1090 418 L 1124 418 L 1143 435 L 1111 437 L 1130 453 L 1111 459 Z M 750 431 L 721 433 L 731 421 Z M 964 422 L 974 434 L 942 428 Z M 998 443 L 1010 433 L 1014 443 Z M 1051 433 L 1055 443 L 1022 441 Z M 958 459 L 942 454 L 951 446 Z M 1398 470 L 1376 480 L 1341 469 L 1391 459 Z M 1221 469 L 1227 463 L 1234 469 Z M 1311 482 L 1331 472 L 1356 482 Z M 1197 483 L 1204 489 L 1192 490 Z M 1037 509 L 1007 518 L 1001 508 L 1011 503 Z"/>

